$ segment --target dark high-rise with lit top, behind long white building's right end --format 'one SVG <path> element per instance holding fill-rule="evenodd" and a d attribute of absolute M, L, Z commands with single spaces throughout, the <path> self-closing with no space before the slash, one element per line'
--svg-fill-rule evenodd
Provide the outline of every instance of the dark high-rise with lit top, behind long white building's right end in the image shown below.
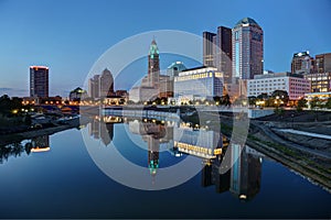
<path fill-rule="evenodd" d="M 312 74 L 313 66 L 313 58 L 309 55 L 308 51 L 293 54 L 291 62 L 292 74 Z"/>

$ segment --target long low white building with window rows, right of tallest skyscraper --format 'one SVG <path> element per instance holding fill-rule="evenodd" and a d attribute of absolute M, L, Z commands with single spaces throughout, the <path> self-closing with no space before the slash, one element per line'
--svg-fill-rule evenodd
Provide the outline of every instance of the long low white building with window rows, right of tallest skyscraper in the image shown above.
<path fill-rule="evenodd" d="M 290 100 L 298 100 L 310 92 L 310 81 L 290 73 L 256 75 L 247 80 L 247 97 L 271 95 L 275 90 L 285 90 Z"/>

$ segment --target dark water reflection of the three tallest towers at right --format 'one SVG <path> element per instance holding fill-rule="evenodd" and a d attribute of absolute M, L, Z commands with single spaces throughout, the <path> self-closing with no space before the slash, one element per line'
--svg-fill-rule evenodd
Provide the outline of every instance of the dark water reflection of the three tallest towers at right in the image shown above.
<path fill-rule="evenodd" d="M 202 169 L 202 186 L 215 185 L 216 193 L 231 191 L 235 197 L 248 200 L 255 197 L 260 189 L 261 158 L 263 155 L 248 146 L 231 144 L 231 162 L 233 164 L 225 173 L 221 174 L 224 155 L 205 162 Z M 238 157 L 239 156 L 239 157 Z"/>

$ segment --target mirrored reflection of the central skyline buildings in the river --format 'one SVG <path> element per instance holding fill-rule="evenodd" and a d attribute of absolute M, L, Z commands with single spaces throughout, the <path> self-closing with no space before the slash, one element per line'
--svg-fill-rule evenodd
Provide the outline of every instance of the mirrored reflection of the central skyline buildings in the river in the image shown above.
<path fill-rule="evenodd" d="M 216 193 L 229 191 L 243 200 L 252 199 L 259 193 L 263 155 L 248 146 L 229 144 L 220 132 L 183 122 L 108 116 L 93 118 L 88 125 L 89 135 L 107 146 L 114 139 L 114 123 L 127 124 L 129 132 L 140 135 L 147 143 L 147 167 L 152 182 L 162 166 L 160 150 L 167 150 L 175 157 L 191 155 L 202 160 L 202 187 L 214 186 Z M 226 163 L 225 153 L 229 156 Z M 226 172 L 221 172 L 222 168 Z"/>

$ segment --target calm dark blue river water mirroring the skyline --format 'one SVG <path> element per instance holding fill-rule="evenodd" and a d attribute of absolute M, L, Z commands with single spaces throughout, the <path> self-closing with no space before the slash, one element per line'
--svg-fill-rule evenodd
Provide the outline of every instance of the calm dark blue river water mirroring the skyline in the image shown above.
<path fill-rule="evenodd" d="M 86 147 L 82 132 L 93 145 Z M 201 140 L 195 139 L 197 132 Z M 81 131 L 24 141 L 2 155 L 0 218 L 330 219 L 331 194 L 249 147 L 214 141 L 210 131 L 138 121 L 92 123 Z M 213 156 L 217 153 L 199 152 L 192 143 L 212 144 L 223 152 Z M 122 162 L 113 158 L 115 150 Z M 233 158 L 239 150 L 242 157 L 220 174 L 224 152 Z M 164 168 L 189 157 L 202 170 L 163 190 L 130 188 L 113 180 L 106 170 L 111 166 L 109 170 L 127 176 L 127 185 L 137 179 L 140 187 L 156 189 L 164 180 Z M 128 174 L 125 161 L 141 169 Z"/>

